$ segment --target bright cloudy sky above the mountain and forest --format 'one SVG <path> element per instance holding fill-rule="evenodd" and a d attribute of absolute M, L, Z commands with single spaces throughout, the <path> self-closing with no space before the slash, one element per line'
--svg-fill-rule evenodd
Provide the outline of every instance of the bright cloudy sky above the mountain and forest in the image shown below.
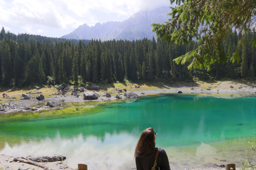
<path fill-rule="evenodd" d="M 61 37 L 85 23 L 124 21 L 160 6 L 171 4 L 169 0 L 0 0 L 0 29 Z"/>

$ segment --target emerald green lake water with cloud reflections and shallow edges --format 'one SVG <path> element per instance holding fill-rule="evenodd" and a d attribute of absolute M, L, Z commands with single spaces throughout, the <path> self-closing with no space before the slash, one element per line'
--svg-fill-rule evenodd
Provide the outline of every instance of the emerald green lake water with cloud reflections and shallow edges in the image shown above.
<path fill-rule="evenodd" d="M 247 142 L 256 139 L 255 104 L 256 97 L 168 94 L 0 114 L 0 154 L 61 154 L 73 168 L 133 169 L 135 145 L 152 127 L 171 169 L 241 166 Z"/>

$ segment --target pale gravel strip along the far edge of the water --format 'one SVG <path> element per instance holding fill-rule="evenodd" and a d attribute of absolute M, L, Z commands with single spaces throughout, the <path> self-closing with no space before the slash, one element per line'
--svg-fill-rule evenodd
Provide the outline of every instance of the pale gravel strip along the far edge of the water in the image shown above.
<path fill-rule="evenodd" d="M 214 94 L 214 95 L 256 95 L 256 88 L 249 87 L 249 88 L 242 88 L 242 89 L 202 89 L 200 87 L 193 87 L 193 88 L 178 88 L 178 87 L 167 87 L 167 88 L 159 88 L 159 89 L 136 89 L 137 91 L 133 91 L 139 97 L 144 95 L 151 95 L 151 94 L 161 94 L 161 93 L 178 93 L 178 91 L 182 91 L 180 94 Z M 113 90 L 112 90 L 113 91 Z M 131 90 L 127 90 L 131 91 Z M 17 100 L 14 102 L 6 102 L 5 104 L 1 104 L 2 107 L 0 108 L 0 114 L 4 113 L 14 113 L 14 112 L 27 112 L 27 111 L 41 111 L 41 110 L 50 110 L 49 106 L 46 106 L 47 102 L 104 102 L 109 100 L 120 100 L 115 97 L 116 94 L 120 94 L 122 96 L 121 100 L 125 99 L 124 93 L 116 93 L 113 91 L 111 97 L 104 96 L 102 90 L 97 90 L 96 93 L 99 94 L 99 98 L 97 100 L 84 100 L 83 96 L 79 95 L 78 97 L 72 95 L 54 95 L 49 98 L 44 98 L 44 100 L 37 100 L 32 98 L 30 100 Z M 82 93 L 83 95 L 83 93 Z M 231 96 L 232 97 L 232 96 Z M 36 107 L 31 107 L 30 105 L 38 105 Z M 62 109 L 61 106 L 53 107 L 53 109 L 60 110 Z"/>

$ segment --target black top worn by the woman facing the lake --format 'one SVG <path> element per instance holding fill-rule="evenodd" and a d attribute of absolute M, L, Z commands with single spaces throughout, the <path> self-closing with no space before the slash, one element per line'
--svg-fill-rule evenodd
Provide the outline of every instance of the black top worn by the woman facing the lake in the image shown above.
<path fill-rule="evenodd" d="M 139 157 L 136 155 L 135 162 L 136 162 L 136 168 L 137 170 L 151 170 L 151 168 L 154 166 L 154 160 L 156 158 L 157 154 L 157 147 L 154 150 L 154 153 L 145 155 L 144 157 Z M 157 166 L 160 168 L 165 168 L 165 170 L 170 170 L 170 164 L 167 157 L 167 154 L 164 149 L 160 149 L 158 157 L 157 157 Z"/>

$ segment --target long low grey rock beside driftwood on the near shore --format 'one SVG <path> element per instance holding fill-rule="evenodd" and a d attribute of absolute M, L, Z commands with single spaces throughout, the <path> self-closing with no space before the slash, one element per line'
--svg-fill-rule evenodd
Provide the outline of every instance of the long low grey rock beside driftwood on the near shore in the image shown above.
<path fill-rule="evenodd" d="M 41 155 L 41 156 L 27 156 L 27 159 L 34 162 L 57 162 L 66 160 L 65 156 L 62 155 Z"/>

